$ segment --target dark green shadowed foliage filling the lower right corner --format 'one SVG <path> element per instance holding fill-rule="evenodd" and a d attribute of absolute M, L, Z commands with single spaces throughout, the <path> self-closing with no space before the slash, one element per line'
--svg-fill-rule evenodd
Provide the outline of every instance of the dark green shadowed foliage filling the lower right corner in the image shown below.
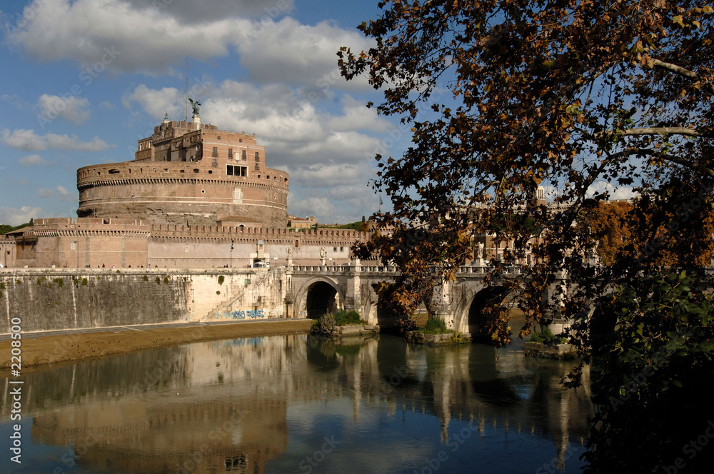
<path fill-rule="evenodd" d="M 600 301 L 587 472 L 710 470 L 714 306 L 693 283 L 684 272 L 652 276 Z"/>

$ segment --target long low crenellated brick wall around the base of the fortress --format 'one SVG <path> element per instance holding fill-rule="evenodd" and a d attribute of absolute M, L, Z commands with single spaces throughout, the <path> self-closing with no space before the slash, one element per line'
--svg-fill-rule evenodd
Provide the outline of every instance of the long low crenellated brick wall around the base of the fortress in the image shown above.
<path fill-rule="evenodd" d="M 177 226 L 118 218 L 36 219 L 20 237 L 7 267 L 243 268 L 256 258 L 270 265 L 341 265 L 370 233 L 346 229 L 291 231 L 245 226 Z M 8 248 L 14 241 L 4 238 Z M 232 248 L 231 248 L 232 247 Z M 4 254 L 5 256 L 13 256 Z"/>

